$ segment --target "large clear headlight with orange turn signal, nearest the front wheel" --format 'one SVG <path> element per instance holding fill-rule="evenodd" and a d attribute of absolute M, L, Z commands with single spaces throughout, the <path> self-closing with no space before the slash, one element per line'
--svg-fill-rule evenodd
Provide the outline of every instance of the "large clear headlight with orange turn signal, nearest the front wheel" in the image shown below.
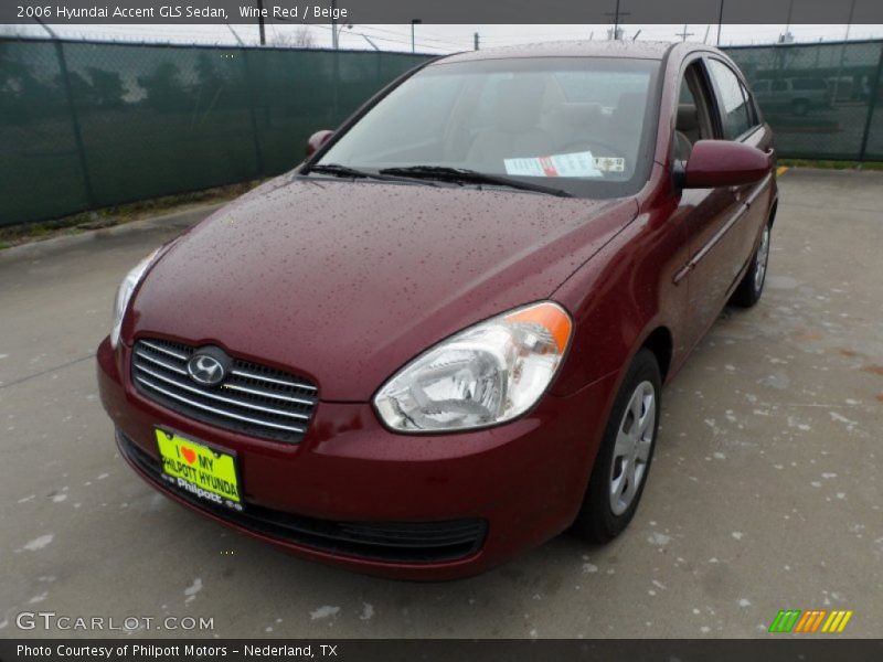
<path fill-rule="evenodd" d="M 572 322 L 543 301 L 491 318 L 440 342 L 394 375 L 374 407 L 394 430 L 464 430 L 511 420 L 545 393 Z"/>

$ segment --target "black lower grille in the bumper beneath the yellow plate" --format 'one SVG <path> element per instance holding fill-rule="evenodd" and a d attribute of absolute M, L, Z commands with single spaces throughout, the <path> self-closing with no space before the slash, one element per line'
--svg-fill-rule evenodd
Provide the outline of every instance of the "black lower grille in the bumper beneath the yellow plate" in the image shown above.
<path fill-rule="evenodd" d="M 160 476 L 159 460 L 117 430 L 123 455 L 150 481 L 172 489 Z M 447 522 L 333 522 L 270 510 L 254 503 L 243 512 L 233 511 L 193 496 L 174 493 L 204 512 L 212 513 L 243 528 L 295 543 L 320 552 L 384 560 L 390 563 L 438 563 L 466 558 L 477 553 L 485 542 L 485 520 Z"/>

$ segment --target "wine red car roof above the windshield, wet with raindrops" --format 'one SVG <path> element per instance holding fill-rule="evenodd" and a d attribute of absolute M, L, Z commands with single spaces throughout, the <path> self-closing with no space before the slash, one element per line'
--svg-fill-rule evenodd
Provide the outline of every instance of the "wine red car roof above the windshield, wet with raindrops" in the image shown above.
<path fill-rule="evenodd" d="M 675 45 L 655 41 L 560 41 L 515 46 L 499 46 L 482 51 L 465 51 L 440 58 L 439 63 L 502 60 L 510 57 L 624 57 L 662 60 Z"/>

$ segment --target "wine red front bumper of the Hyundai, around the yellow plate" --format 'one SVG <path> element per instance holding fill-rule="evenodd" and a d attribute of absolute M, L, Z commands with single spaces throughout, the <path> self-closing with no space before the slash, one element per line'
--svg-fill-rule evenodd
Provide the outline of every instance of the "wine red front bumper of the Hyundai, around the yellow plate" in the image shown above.
<path fill-rule="evenodd" d="M 547 395 L 511 424 L 456 435 L 394 434 L 370 404 L 320 402 L 306 437 L 291 445 L 201 424 L 145 398 L 123 369 L 128 352 L 102 343 L 98 385 L 124 457 L 150 484 L 299 556 L 427 580 L 488 569 L 573 522 L 616 380 L 567 398 Z M 156 425 L 236 452 L 244 516 L 160 480 Z M 427 545 L 403 552 L 403 541 Z"/>

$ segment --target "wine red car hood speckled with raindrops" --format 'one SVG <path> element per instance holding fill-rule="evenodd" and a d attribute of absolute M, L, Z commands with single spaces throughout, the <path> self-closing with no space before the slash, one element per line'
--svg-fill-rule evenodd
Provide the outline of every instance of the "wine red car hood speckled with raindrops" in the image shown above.
<path fill-rule="evenodd" d="M 217 344 L 365 402 L 434 343 L 547 298 L 634 200 L 280 178 L 151 267 L 123 338 Z"/>

